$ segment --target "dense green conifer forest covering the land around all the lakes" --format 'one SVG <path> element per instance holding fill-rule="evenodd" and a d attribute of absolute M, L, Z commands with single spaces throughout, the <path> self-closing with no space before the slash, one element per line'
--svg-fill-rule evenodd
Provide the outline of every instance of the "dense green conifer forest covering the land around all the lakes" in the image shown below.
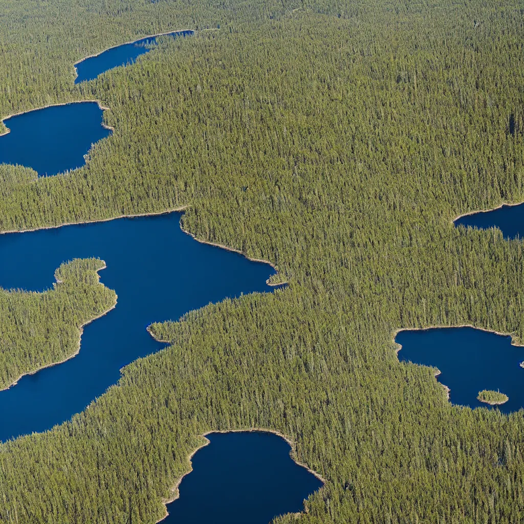
<path fill-rule="evenodd" d="M 524 522 L 524 411 L 452 405 L 394 343 L 459 324 L 524 341 L 521 239 L 453 226 L 524 200 L 523 15 L 514 0 L 0 0 L 0 113 L 96 99 L 115 129 L 63 175 L 0 166 L 1 231 L 187 206 L 185 231 L 288 282 L 152 324 L 169 347 L 70 421 L 0 444 L 0 522 L 153 524 L 201 435 L 248 428 L 287 435 L 326 480 L 302 522 Z M 186 28 L 73 84 L 85 56 Z M 68 352 L 114 300 L 100 261 L 74 264 L 59 271 L 83 297 L 59 284 L 31 306 L 46 326 L 75 297 Z M 0 301 L 13 340 L 9 300 L 40 299 Z"/>

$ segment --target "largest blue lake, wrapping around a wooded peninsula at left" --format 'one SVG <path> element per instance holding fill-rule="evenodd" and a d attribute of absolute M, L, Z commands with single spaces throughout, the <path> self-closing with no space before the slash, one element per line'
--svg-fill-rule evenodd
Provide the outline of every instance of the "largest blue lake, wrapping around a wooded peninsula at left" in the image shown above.
<path fill-rule="evenodd" d="M 0 440 L 41 432 L 82 411 L 120 377 L 122 366 L 159 351 L 146 328 L 241 293 L 266 292 L 268 264 L 196 242 L 181 213 L 0 235 L 0 286 L 43 291 L 73 258 L 100 257 L 115 309 L 84 328 L 80 353 L 0 392 Z"/>

